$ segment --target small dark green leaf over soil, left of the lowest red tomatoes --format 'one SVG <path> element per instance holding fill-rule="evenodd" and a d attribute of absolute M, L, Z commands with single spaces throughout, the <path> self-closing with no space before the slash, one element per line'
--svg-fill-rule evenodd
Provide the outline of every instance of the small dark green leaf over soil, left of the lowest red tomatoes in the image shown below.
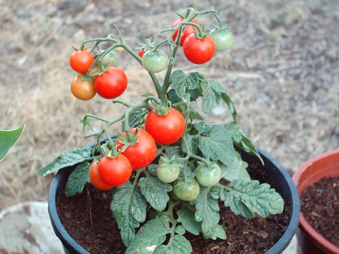
<path fill-rule="evenodd" d="M 68 177 L 65 193 L 66 196 L 74 196 L 77 193 L 82 193 L 82 189 L 89 180 L 90 177 L 90 166 L 89 162 L 83 162 L 77 165 L 74 171 Z"/>

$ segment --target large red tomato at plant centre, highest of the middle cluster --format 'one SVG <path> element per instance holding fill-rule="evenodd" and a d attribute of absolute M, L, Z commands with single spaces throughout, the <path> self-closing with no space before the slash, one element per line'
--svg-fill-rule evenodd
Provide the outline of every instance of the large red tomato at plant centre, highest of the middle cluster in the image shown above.
<path fill-rule="evenodd" d="M 145 119 L 145 129 L 156 143 L 170 145 L 178 141 L 185 132 L 185 119 L 176 109 L 171 108 L 166 116 L 151 110 Z"/>

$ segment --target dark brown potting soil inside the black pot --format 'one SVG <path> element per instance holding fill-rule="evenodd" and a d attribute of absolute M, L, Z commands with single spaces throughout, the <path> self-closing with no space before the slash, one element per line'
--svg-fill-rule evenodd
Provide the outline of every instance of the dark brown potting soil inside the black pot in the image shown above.
<path fill-rule="evenodd" d="M 254 179 L 277 188 L 274 182 L 259 174 L 258 165 L 249 165 L 248 172 Z M 110 202 L 110 191 L 98 191 L 90 184 L 86 185 L 82 194 L 65 197 L 62 193 L 59 197 L 57 210 L 63 226 L 73 239 L 93 254 L 119 254 L 126 250 L 109 209 Z M 288 206 L 285 203 L 282 214 L 246 219 L 235 216 L 229 208 L 220 204 L 219 224 L 226 229 L 226 240 L 204 240 L 201 235 L 189 233 L 185 237 L 191 242 L 193 254 L 262 254 L 285 232 L 291 219 Z"/>

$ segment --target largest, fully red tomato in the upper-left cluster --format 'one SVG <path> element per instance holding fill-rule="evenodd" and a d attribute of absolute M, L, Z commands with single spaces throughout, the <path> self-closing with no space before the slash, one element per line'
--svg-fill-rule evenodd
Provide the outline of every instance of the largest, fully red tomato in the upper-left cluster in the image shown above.
<path fill-rule="evenodd" d="M 95 76 L 94 88 L 105 99 L 117 98 L 127 88 L 127 76 L 118 67 L 109 67 L 102 75 Z"/>

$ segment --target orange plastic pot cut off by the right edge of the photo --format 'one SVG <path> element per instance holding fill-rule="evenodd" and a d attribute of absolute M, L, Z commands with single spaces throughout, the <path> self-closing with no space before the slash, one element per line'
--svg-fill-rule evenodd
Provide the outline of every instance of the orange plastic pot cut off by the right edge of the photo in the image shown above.
<path fill-rule="evenodd" d="M 339 149 L 310 159 L 295 172 L 292 179 L 300 195 L 308 186 L 324 177 L 339 177 Z M 298 254 L 339 254 L 339 247 L 315 231 L 302 212 L 296 237 Z"/>

